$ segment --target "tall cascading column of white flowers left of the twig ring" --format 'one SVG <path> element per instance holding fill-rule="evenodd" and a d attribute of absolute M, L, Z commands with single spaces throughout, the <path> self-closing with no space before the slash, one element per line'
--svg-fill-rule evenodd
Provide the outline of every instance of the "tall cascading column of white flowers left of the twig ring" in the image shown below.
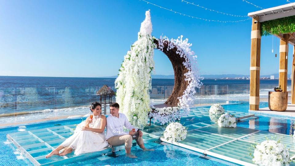
<path fill-rule="evenodd" d="M 148 121 L 150 111 L 151 71 L 155 44 L 151 37 L 151 17 L 146 11 L 146 18 L 141 23 L 138 40 L 124 56 L 124 61 L 115 81 L 116 102 L 120 111 L 137 128 L 143 128 Z"/>

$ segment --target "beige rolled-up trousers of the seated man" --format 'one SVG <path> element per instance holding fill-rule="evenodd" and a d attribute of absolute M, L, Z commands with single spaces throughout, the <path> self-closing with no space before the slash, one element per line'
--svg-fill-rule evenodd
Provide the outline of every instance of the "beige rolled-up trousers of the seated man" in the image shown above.
<path fill-rule="evenodd" d="M 141 145 L 144 143 L 142 136 L 139 136 L 138 132 L 135 132 L 134 135 L 136 136 L 135 138 L 133 138 L 131 135 L 112 136 L 107 141 L 112 146 L 125 144 L 125 148 L 132 147 L 132 140 L 136 140 L 138 145 Z"/>

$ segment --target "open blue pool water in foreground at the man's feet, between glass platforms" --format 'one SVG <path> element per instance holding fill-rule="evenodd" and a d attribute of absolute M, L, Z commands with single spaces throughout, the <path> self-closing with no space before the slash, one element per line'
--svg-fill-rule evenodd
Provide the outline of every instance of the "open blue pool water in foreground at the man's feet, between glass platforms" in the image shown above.
<path fill-rule="evenodd" d="M 131 153 L 138 156 L 136 159 L 125 157 L 125 152 L 120 151 L 116 152 L 116 155 L 119 156 L 115 158 L 113 158 L 112 155 L 108 155 L 105 157 L 89 159 L 87 161 L 78 161 L 67 165 L 237 165 L 216 158 L 206 159 L 202 157 L 202 154 L 192 152 L 190 150 L 171 144 L 152 142 L 145 144 L 145 146 L 146 148 L 155 149 L 155 151 L 143 152 L 138 146 L 135 146 L 132 147 Z"/>

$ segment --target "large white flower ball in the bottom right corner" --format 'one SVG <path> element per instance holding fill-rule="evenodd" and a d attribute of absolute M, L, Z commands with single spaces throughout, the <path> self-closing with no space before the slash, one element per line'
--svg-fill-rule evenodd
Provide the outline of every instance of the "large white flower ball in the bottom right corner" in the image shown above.
<path fill-rule="evenodd" d="M 289 166 L 291 160 L 288 150 L 280 141 L 266 140 L 256 145 L 252 161 L 260 166 Z"/>

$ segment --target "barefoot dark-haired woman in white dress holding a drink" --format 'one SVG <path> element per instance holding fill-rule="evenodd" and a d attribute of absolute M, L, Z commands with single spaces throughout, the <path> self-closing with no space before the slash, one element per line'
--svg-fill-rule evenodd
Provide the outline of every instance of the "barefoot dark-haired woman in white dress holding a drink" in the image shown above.
<path fill-rule="evenodd" d="M 85 121 L 85 126 L 81 128 L 80 131 L 76 132 L 76 129 L 72 136 L 46 155 L 46 158 L 52 155 L 65 156 L 73 150 L 75 151 L 74 154 L 78 156 L 83 153 L 97 152 L 110 147 L 104 138 L 106 118 L 104 115 L 101 115 L 100 103 L 92 103 L 90 110 L 93 112 L 93 119 L 88 117 Z M 65 150 L 59 153 L 59 151 L 64 148 Z"/>

